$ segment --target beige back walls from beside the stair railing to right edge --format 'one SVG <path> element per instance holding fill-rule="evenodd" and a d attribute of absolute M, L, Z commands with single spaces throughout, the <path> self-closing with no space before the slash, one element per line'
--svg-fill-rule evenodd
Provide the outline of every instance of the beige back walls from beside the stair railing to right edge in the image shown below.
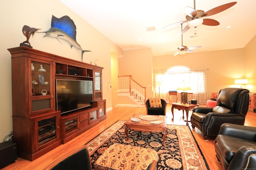
<path fill-rule="evenodd" d="M 183 57 L 180 55 L 175 57 L 173 55 L 152 57 L 150 49 L 124 51 L 123 58 L 119 59 L 118 75 L 132 75 L 134 80 L 146 87 L 147 98 L 154 95 L 152 91 L 154 84 L 152 83 L 152 77 L 150 77 L 152 72 L 165 71 L 175 65 L 184 65 L 191 69 L 207 68 L 209 99 L 212 92 L 218 92 L 222 88 L 239 88 L 240 85 L 234 84 L 236 78 L 248 78 L 249 83 L 243 85 L 242 88 L 256 92 L 255 44 L 256 36 L 246 47 L 241 49 L 206 52 L 196 52 L 195 50 L 196 53 L 188 53 Z M 152 60 L 150 57 L 152 57 Z"/>

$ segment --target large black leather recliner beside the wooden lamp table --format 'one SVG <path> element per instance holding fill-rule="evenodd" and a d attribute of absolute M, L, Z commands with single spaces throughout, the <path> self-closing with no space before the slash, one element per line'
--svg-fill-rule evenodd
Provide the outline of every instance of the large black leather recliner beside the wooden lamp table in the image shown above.
<path fill-rule="evenodd" d="M 214 107 L 200 107 L 193 109 L 191 124 L 197 127 L 204 139 L 217 136 L 223 123 L 244 125 L 249 106 L 249 90 L 242 88 L 225 88 L 219 91 L 216 106 L 230 109 L 228 113 L 214 112 Z"/>

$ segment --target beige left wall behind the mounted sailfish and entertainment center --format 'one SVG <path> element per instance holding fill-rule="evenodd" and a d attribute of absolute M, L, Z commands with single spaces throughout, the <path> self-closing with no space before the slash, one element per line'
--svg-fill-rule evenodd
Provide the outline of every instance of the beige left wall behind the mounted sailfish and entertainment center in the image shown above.
<path fill-rule="evenodd" d="M 41 28 L 46 31 L 51 26 L 52 15 L 60 18 L 69 16 L 76 24 L 76 41 L 82 49 L 92 52 L 84 53 L 83 62 L 90 63 L 97 59 L 96 64 L 104 67 L 103 82 L 111 80 L 111 52 L 122 55 L 122 49 L 98 32 L 94 27 L 72 12 L 58 0 L 44 0 L 37 2 L 24 2 L 20 0 L 2 1 L 0 5 L 0 141 L 12 131 L 12 82 L 11 59 L 8 48 L 18 47 L 26 40 L 22 34 L 23 25 Z M 70 48 L 65 41 L 43 37 L 45 33 L 35 33 L 29 41 L 33 49 L 45 51 L 62 57 L 81 61 L 81 51 Z M 22 73 L 21 73 L 22 74 Z M 15 84 L 18 86 L 18 84 Z M 111 90 L 103 84 L 103 98 L 106 99 L 106 107 L 112 107 Z M 14 94 L 15 96 L 15 94 Z"/>

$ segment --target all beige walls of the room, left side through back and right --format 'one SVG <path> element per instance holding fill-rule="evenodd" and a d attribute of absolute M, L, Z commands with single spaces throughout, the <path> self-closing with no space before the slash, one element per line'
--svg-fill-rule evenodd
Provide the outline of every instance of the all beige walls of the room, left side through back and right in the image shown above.
<path fill-rule="evenodd" d="M 58 8 L 56 8 L 58 7 Z M 183 58 L 156 56 L 152 57 L 151 49 L 124 51 L 112 43 L 102 33 L 64 6 L 58 0 L 44 0 L 35 3 L 24 3 L 18 0 L 1 2 L 1 31 L 0 31 L 0 140 L 12 131 L 12 82 L 11 60 L 8 48 L 18 47 L 26 40 L 22 34 L 23 25 L 41 28 L 46 31 L 50 28 L 52 15 L 60 18 L 70 16 L 76 24 L 76 40 L 84 50 L 91 50 L 84 54 L 83 62 L 96 61 L 103 69 L 103 98 L 106 99 L 107 109 L 118 104 L 116 97 L 118 75 L 132 75 L 142 86 L 145 86 L 147 97 L 152 97 L 152 72 L 166 70 L 173 65 L 186 65 L 191 69 L 208 68 L 208 98 L 211 92 L 218 91 L 234 85 L 234 78 L 249 78 L 251 91 L 256 92 L 255 82 L 255 51 L 256 37 L 254 37 L 244 49 L 232 49 L 222 51 L 210 51 L 194 54 L 186 54 Z M 70 48 L 68 43 L 45 37 L 44 33 L 36 33 L 30 38 L 34 49 L 60 55 L 70 59 L 81 61 L 80 51 Z M 203 47 L 202 47 L 203 48 Z M 196 50 L 195 50 L 196 51 Z M 122 57 L 118 57 L 122 56 Z M 108 83 L 108 80 L 111 80 Z M 106 86 L 111 85 L 111 90 Z M 18 84 L 16 84 L 18 86 Z M 14 94 L 15 96 L 15 94 Z"/>

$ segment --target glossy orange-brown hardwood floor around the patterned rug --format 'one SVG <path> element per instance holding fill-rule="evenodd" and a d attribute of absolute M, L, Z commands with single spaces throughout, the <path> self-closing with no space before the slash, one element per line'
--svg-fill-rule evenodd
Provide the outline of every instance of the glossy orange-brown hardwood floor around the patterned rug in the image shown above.
<path fill-rule="evenodd" d="M 175 124 L 175 125 L 186 125 L 186 122 L 181 119 L 182 111 L 178 111 L 174 109 L 174 121 L 172 121 L 172 112 L 171 112 L 171 105 L 168 104 L 167 106 L 167 123 L 168 124 Z M 251 112 L 252 110 L 249 109 L 245 124 L 246 126 L 254 126 L 256 127 L 256 113 Z M 191 114 L 192 112 L 190 112 Z M 18 158 L 16 162 L 10 164 L 3 168 L 3 170 L 42 170 L 48 164 L 56 160 L 57 158 L 67 154 L 68 152 L 81 147 L 85 143 L 89 142 L 91 139 L 96 137 L 99 133 L 104 131 L 106 128 L 111 126 L 118 120 L 128 120 L 134 114 L 143 114 L 146 115 L 146 108 L 144 107 L 115 107 L 113 110 L 107 112 L 107 119 L 100 122 L 95 127 L 91 128 L 90 130 L 84 132 L 83 134 L 79 135 L 78 137 L 72 139 L 68 143 L 64 145 L 60 145 L 55 149 L 51 150 L 50 152 L 42 155 L 41 157 L 37 158 L 34 161 L 24 160 L 22 158 Z M 190 117 L 190 115 L 189 115 Z M 191 127 L 191 123 L 189 122 L 189 127 Z M 222 166 L 215 157 L 215 149 L 214 149 L 214 138 L 210 138 L 208 141 L 205 141 L 202 137 L 202 133 L 198 129 L 193 129 L 192 133 L 202 150 L 204 157 L 210 167 L 211 170 L 222 170 Z"/>

